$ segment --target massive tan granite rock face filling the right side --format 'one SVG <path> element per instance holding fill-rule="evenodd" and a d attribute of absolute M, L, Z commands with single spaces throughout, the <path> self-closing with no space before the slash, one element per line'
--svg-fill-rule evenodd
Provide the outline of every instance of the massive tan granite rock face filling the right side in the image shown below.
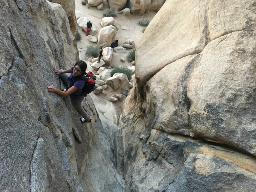
<path fill-rule="evenodd" d="M 126 190 L 255 189 L 255 6 L 165 1 L 151 20 L 120 116 Z"/>

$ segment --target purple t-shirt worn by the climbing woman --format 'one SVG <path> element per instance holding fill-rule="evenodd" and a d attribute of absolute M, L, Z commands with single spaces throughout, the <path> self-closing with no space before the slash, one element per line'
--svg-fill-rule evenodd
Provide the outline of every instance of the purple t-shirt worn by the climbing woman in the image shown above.
<path fill-rule="evenodd" d="M 70 74 L 69 77 L 74 77 L 73 76 L 73 69 L 74 69 L 74 66 L 71 67 L 72 69 L 72 73 Z M 68 81 L 68 84 L 67 84 L 67 88 L 69 89 L 71 86 L 75 86 L 78 88 L 78 90 L 76 90 L 74 93 L 71 93 L 69 96 L 71 99 L 81 99 L 84 95 L 82 95 L 82 89 L 84 88 L 84 84 L 85 84 L 85 81 L 83 80 L 76 80 L 76 82 L 74 83 L 74 79 L 72 80 L 69 80 Z"/>

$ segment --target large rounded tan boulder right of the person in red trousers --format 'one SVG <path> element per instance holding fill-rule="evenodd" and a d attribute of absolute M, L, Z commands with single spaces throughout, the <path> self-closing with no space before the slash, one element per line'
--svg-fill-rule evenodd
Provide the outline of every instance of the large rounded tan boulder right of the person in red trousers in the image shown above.
<path fill-rule="evenodd" d="M 105 45 L 110 46 L 116 38 L 116 28 L 113 25 L 103 27 L 99 30 L 98 46 L 103 47 Z"/>

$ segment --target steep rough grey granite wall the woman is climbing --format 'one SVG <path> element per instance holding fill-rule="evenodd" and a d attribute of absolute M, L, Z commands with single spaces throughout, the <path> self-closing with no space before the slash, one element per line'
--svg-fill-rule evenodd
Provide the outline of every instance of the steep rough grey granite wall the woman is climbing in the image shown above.
<path fill-rule="evenodd" d="M 78 61 L 66 12 L 45 0 L 3 0 L 0 17 L 0 191 L 122 189 L 113 142 L 118 128 L 98 120 L 89 95 L 82 105 L 93 123 L 83 125 L 69 97 L 47 91 L 48 83 L 65 87 L 55 67 Z M 92 142 L 105 152 L 95 156 Z M 110 176 L 103 174 L 101 185 L 85 179 L 95 174 L 86 164 L 95 157 Z"/>

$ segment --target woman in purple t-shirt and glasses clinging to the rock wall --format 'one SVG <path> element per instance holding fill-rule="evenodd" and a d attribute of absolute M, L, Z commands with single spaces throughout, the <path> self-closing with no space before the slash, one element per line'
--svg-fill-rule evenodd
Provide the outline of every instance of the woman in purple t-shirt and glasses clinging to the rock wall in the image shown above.
<path fill-rule="evenodd" d="M 55 68 L 55 74 L 59 75 L 62 82 L 67 86 L 67 90 L 63 89 L 63 91 L 54 88 L 52 85 L 47 86 L 47 90 L 49 92 L 54 92 L 62 97 L 67 97 L 68 95 L 71 98 L 72 106 L 76 109 L 76 111 L 82 116 L 80 121 L 82 123 L 90 123 L 91 119 L 88 114 L 82 108 L 82 100 L 84 99 L 84 94 L 82 93 L 82 89 L 84 87 L 85 81 L 80 78 L 86 73 L 85 70 L 87 65 L 84 61 L 78 61 L 71 69 L 57 69 Z M 71 73 L 68 75 L 67 73 Z"/>

